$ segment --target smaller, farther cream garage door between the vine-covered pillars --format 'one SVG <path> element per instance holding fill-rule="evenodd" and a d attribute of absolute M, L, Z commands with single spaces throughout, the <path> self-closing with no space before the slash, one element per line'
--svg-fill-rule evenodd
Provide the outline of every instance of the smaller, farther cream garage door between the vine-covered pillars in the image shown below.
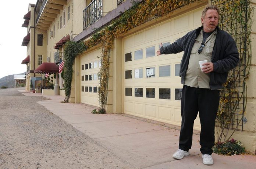
<path fill-rule="evenodd" d="M 101 50 L 97 49 L 81 56 L 81 103 L 93 106 L 99 106 L 99 80 L 97 73 L 101 66 L 99 60 L 100 52 Z"/>

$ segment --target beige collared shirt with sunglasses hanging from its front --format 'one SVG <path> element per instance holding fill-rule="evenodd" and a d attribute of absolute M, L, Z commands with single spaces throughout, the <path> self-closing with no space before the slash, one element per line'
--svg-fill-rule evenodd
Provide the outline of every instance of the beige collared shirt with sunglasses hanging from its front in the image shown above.
<path fill-rule="evenodd" d="M 205 41 L 205 47 L 202 52 L 199 54 L 198 49 L 203 42 L 203 30 L 201 30 L 200 34 L 195 40 L 193 48 L 191 50 L 188 70 L 186 70 L 185 75 L 185 85 L 190 87 L 199 87 L 210 89 L 210 73 L 205 74 L 201 71 L 199 61 L 207 60 L 207 62 L 211 61 L 211 54 L 213 52 L 214 42 L 216 40 L 215 30 Z"/>

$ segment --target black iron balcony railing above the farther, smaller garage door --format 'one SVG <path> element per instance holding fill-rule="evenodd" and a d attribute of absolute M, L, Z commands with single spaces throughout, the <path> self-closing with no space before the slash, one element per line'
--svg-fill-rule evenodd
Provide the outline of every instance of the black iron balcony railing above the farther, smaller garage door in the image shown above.
<path fill-rule="evenodd" d="M 83 30 L 102 17 L 102 0 L 93 0 L 83 10 Z"/>

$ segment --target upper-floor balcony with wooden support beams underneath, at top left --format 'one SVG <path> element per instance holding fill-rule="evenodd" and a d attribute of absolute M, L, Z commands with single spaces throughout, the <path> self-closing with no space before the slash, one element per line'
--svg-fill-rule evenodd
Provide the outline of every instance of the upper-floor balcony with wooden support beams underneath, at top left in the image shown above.
<path fill-rule="evenodd" d="M 36 27 L 47 30 L 67 5 L 67 0 L 40 0 L 35 6 Z"/>

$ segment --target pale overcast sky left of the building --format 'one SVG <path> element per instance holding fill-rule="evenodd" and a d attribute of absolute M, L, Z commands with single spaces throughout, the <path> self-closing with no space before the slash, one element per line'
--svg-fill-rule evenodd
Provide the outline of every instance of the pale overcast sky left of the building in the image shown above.
<path fill-rule="evenodd" d="M 0 78 L 26 72 L 21 61 L 27 57 L 26 46 L 21 46 L 27 28 L 21 27 L 28 4 L 37 0 L 1 1 L 0 5 Z"/>

